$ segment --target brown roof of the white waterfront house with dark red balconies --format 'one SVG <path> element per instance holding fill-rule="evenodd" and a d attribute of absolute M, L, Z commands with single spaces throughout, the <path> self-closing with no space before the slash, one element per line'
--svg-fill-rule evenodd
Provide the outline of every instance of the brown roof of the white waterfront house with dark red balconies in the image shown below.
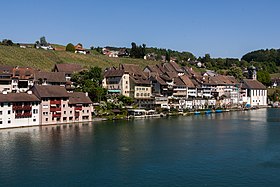
<path fill-rule="evenodd" d="M 37 102 L 40 101 L 34 94 L 28 93 L 8 93 L 0 94 L 0 102 Z"/>

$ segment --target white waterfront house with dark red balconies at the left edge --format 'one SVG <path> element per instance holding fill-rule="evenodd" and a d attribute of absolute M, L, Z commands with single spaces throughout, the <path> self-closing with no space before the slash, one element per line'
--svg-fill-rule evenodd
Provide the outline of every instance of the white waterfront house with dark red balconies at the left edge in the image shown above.
<path fill-rule="evenodd" d="M 39 124 L 40 100 L 31 91 L 0 94 L 0 128 Z"/>

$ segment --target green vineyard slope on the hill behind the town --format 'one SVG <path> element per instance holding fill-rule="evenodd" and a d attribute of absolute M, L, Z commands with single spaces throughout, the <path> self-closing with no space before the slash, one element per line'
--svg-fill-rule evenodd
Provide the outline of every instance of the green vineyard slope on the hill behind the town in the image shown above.
<path fill-rule="evenodd" d="M 157 64 L 156 61 L 131 58 L 109 58 L 96 54 L 75 54 L 66 51 L 46 51 L 35 48 L 20 48 L 17 46 L 0 45 L 0 64 L 11 66 L 27 66 L 40 70 L 50 71 L 56 63 L 77 63 L 84 67 L 98 66 L 106 68 L 118 66 L 120 63 L 139 64 L 142 68 L 149 64 Z"/>

